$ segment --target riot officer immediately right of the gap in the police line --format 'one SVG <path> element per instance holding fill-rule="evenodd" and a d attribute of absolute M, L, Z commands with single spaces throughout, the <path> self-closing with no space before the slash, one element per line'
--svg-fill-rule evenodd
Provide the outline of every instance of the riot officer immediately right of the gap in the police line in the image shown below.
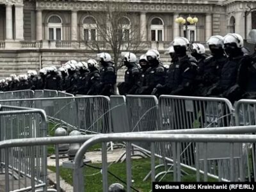
<path fill-rule="evenodd" d="M 134 94 L 139 86 L 140 70 L 136 63 L 136 55 L 132 52 L 123 52 L 123 63 L 127 70 L 125 70 L 124 82 L 118 84 L 118 91 L 120 95 Z"/>

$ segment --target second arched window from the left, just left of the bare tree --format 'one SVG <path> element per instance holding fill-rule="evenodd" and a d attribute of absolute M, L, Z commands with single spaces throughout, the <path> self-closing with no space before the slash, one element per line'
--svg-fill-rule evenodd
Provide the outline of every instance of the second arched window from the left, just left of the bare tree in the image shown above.
<path fill-rule="evenodd" d="M 83 20 L 83 39 L 88 40 L 97 40 L 97 23 L 96 20 L 91 17 L 85 17 Z"/>

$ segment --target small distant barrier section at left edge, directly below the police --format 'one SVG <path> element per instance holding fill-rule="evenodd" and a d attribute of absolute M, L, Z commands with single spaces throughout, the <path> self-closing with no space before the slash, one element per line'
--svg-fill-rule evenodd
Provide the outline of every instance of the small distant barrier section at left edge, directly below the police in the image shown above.
<path fill-rule="evenodd" d="M 32 99 L 35 93 L 32 90 L 20 90 L 0 93 L 1 99 Z"/>

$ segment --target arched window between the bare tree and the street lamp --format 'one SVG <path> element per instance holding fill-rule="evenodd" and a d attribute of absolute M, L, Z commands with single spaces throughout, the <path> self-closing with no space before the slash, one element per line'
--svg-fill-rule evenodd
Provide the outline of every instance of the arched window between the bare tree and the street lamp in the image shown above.
<path fill-rule="evenodd" d="M 162 42 L 164 40 L 164 22 L 162 19 L 155 17 L 150 23 L 151 40 Z"/>

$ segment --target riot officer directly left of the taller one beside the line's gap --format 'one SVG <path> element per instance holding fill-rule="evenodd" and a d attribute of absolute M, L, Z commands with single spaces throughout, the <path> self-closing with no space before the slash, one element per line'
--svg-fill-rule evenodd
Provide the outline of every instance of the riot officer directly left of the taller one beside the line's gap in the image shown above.
<path fill-rule="evenodd" d="M 85 95 L 97 95 L 100 86 L 100 70 L 99 64 L 96 60 L 90 59 L 87 61 L 90 73 L 86 79 Z"/>

